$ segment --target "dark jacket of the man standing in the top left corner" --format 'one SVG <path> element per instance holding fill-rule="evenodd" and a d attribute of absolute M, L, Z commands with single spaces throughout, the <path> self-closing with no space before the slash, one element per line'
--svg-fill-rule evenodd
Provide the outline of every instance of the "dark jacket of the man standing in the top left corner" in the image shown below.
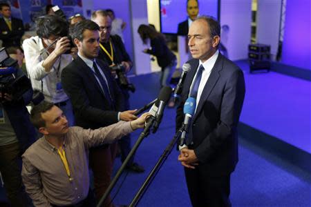
<path fill-rule="evenodd" d="M 3 41 L 3 47 L 21 46 L 21 37 L 23 36 L 24 28 L 23 21 L 11 17 L 12 31 L 8 28 L 8 24 L 3 18 L 0 18 L 0 39 Z"/>

